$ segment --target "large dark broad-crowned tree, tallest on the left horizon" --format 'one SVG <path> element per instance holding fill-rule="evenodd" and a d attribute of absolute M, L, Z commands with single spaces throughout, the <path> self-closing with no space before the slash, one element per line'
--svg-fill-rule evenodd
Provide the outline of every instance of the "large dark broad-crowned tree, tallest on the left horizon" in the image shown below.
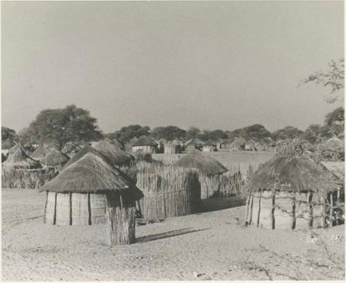
<path fill-rule="evenodd" d="M 68 141 L 99 140 L 102 133 L 96 122 L 89 111 L 75 105 L 42 110 L 28 127 L 28 141 L 53 143 L 62 148 Z"/>

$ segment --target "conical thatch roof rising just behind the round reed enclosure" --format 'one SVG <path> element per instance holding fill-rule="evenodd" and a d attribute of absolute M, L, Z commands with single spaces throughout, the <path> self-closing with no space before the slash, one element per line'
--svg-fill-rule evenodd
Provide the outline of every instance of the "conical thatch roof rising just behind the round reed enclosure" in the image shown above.
<path fill-rule="evenodd" d="M 196 168 L 199 169 L 201 173 L 207 175 L 221 174 L 228 171 L 220 162 L 197 149 L 194 149 L 184 157 L 181 157 L 174 163 L 174 165 L 185 168 Z"/>

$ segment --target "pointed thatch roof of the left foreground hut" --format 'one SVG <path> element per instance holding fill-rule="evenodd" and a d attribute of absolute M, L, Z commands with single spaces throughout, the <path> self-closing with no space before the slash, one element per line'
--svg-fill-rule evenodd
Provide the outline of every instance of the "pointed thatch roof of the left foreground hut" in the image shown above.
<path fill-rule="evenodd" d="M 39 191 L 57 193 L 104 193 L 111 191 L 127 199 L 138 200 L 142 191 L 127 175 L 113 168 L 101 157 L 86 153 L 80 160 L 66 167 Z"/>

